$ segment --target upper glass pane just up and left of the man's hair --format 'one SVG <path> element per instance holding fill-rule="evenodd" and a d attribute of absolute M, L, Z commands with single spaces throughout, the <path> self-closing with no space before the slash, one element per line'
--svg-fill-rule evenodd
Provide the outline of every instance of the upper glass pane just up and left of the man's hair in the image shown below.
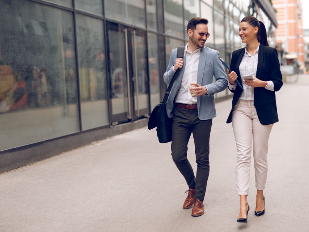
<path fill-rule="evenodd" d="M 165 33 L 184 38 L 182 0 L 164 0 Z"/>

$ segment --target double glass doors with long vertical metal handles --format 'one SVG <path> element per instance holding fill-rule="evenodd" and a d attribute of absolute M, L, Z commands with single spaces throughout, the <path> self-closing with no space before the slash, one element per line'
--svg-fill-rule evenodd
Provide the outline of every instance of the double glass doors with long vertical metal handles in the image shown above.
<path fill-rule="evenodd" d="M 112 124 L 149 113 L 146 33 L 107 23 Z"/>

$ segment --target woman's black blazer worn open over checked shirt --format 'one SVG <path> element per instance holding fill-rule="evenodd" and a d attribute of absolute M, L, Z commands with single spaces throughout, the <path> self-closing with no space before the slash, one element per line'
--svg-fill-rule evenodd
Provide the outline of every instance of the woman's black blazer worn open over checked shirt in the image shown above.
<path fill-rule="evenodd" d="M 237 79 L 242 85 L 242 80 L 239 72 L 239 64 L 245 53 L 245 48 L 238 49 L 232 53 L 231 67 L 232 71 L 237 74 Z M 278 91 L 283 82 L 282 75 L 280 71 L 280 64 L 278 60 L 277 50 L 268 46 L 260 44 L 256 77 L 263 81 L 271 80 L 274 84 L 274 90 Z M 226 123 L 232 122 L 233 109 L 242 93 L 239 86 L 235 90 L 230 90 L 234 93 L 232 100 L 232 109 L 227 118 Z M 276 105 L 275 92 L 269 91 L 264 87 L 254 88 L 254 106 L 256 108 L 257 115 L 259 117 L 260 123 L 263 125 L 269 125 L 278 122 L 278 113 Z"/>

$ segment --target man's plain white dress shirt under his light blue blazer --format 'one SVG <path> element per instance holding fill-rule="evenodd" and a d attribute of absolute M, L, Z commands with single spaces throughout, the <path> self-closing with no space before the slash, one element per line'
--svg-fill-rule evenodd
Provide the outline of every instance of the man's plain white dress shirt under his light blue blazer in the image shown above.
<path fill-rule="evenodd" d="M 190 83 L 197 83 L 197 68 L 200 60 L 200 48 L 194 52 L 188 51 L 188 44 L 185 47 L 186 66 L 184 67 L 184 76 L 176 95 L 175 102 L 182 104 L 197 104 L 197 97 L 192 97 L 189 92 Z M 174 67 L 173 67 L 174 68 Z"/>

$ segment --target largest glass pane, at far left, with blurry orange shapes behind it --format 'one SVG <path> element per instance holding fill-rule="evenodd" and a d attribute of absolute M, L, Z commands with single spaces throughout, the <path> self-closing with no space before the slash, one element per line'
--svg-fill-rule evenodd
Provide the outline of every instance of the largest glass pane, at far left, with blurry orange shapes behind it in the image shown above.
<path fill-rule="evenodd" d="M 79 131 L 72 13 L 15 0 L 1 14 L 0 149 Z"/>

